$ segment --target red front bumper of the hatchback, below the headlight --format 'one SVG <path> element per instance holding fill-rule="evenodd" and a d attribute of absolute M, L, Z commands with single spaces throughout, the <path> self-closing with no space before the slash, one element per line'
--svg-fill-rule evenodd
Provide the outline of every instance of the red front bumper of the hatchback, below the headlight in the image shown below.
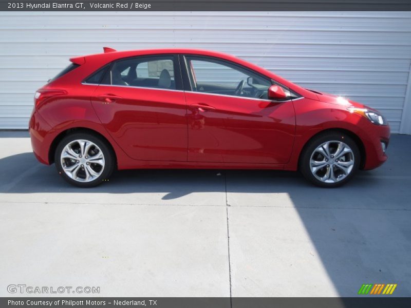
<path fill-rule="evenodd" d="M 389 143 L 390 128 L 386 126 L 372 125 L 369 131 L 365 132 L 367 137 L 362 138 L 365 150 L 364 170 L 370 170 L 381 166 L 387 159 L 381 142 L 386 146 Z"/>

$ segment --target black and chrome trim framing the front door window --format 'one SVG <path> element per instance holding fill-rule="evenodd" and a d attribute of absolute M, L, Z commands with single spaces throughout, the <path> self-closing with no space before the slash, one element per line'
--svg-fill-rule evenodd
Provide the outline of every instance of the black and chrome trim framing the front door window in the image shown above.
<path fill-rule="evenodd" d="M 292 95 L 294 95 L 295 98 L 290 98 L 289 100 L 276 101 L 276 100 L 270 100 L 270 99 L 247 98 L 247 97 L 241 97 L 241 96 L 238 96 L 238 95 L 206 93 L 206 92 L 198 92 L 198 91 L 195 91 L 195 90 L 193 90 L 193 87 L 192 87 L 192 82 L 193 82 L 193 81 L 192 81 L 192 77 L 190 77 L 191 73 L 190 73 L 189 65 L 188 65 L 188 59 L 187 59 L 188 57 L 198 58 L 198 59 L 200 59 L 200 61 L 201 61 L 201 59 L 211 60 L 210 62 L 217 63 L 217 64 L 218 64 L 218 62 L 220 62 L 220 63 L 222 63 L 222 65 L 227 64 L 228 67 L 234 67 L 234 68 L 235 68 L 235 67 L 238 67 L 240 71 L 241 71 L 241 70 L 244 70 L 244 71 L 248 71 L 248 72 L 250 72 L 250 73 L 252 73 L 252 74 L 255 74 L 255 75 L 259 76 L 260 78 L 263 78 L 263 79 L 269 81 L 269 82 L 271 83 L 271 85 L 278 85 L 278 86 L 281 86 L 281 87 L 285 88 L 285 89 L 288 90 Z M 183 61 L 181 61 L 181 60 L 183 60 Z M 266 76 L 266 75 L 264 75 L 264 74 L 261 74 L 261 73 L 259 73 L 259 72 L 256 72 L 255 70 L 250 69 L 250 68 L 248 68 L 248 67 L 246 67 L 246 66 L 244 66 L 244 65 L 241 65 L 241 64 L 238 64 L 238 63 L 235 63 L 235 62 L 226 60 L 226 59 L 221 59 L 221 58 L 216 57 L 216 56 L 208 56 L 208 55 L 202 55 L 202 54 L 184 53 L 184 54 L 180 54 L 180 62 L 182 62 L 183 65 L 184 65 L 184 67 L 181 68 L 181 70 L 183 71 L 184 91 L 196 92 L 196 93 L 201 93 L 201 94 L 222 95 L 222 96 L 225 96 L 225 97 L 234 97 L 234 98 L 242 98 L 242 99 L 252 99 L 252 100 L 270 101 L 270 102 L 276 102 L 276 103 L 289 102 L 289 101 L 292 101 L 292 100 L 295 101 L 295 100 L 298 100 L 298 99 L 303 98 L 302 95 L 300 95 L 300 94 L 298 94 L 298 93 L 290 90 L 289 87 L 287 87 L 287 86 L 285 86 L 285 85 L 283 85 L 283 84 L 281 84 L 281 83 L 273 80 L 272 78 L 269 78 L 268 76 Z M 184 75 L 185 75 L 185 76 L 184 76 Z"/>

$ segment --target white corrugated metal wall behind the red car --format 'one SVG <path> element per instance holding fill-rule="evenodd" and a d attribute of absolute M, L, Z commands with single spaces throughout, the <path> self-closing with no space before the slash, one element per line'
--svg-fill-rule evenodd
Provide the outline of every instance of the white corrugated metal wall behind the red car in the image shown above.
<path fill-rule="evenodd" d="M 103 46 L 228 52 L 409 121 L 411 12 L 0 12 L 0 46 L 0 128 L 26 128 L 34 91 Z"/>

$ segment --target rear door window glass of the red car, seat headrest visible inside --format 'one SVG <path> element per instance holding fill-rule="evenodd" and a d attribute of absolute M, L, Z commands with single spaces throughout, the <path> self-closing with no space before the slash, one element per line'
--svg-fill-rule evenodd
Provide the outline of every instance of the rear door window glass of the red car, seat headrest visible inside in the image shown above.
<path fill-rule="evenodd" d="M 176 89 L 173 56 L 135 57 L 113 63 L 103 84 Z"/>

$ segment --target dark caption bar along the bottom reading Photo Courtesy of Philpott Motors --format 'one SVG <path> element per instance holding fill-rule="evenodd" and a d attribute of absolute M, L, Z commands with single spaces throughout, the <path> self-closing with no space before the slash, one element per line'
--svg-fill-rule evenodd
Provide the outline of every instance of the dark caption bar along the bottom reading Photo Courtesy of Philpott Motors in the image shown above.
<path fill-rule="evenodd" d="M 20 303 L 17 303 L 20 302 Z M 50 305 L 51 302 L 51 305 Z M 120 304 L 118 304 L 120 302 Z M 128 302 L 128 304 L 127 304 Z M 38 303 L 38 304 L 36 304 Z M 408 308 L 411 298 L 364 297 L 2 297 L 2 308 Z"/>

